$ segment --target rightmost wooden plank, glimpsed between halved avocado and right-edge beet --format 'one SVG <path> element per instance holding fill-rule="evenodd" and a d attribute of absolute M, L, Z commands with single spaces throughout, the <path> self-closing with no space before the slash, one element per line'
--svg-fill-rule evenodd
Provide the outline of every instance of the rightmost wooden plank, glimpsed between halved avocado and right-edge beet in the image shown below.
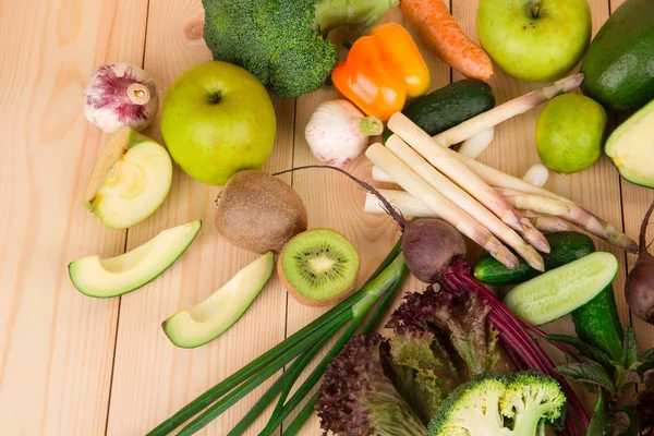
<path fill-rule="evenodd" d="M 610 0 L 611 13 L 616 11 L 626 0 Z M 618 122 L 623 122 L 627 116 L 618 117 Z M 625 229 L 627 233 L 637 238 L 640 233 L 640 226 L 647 210 L 650 204 L 654 201 L 654 191 L 650 187 L 638 186 L 629 183 L 625 179 L 620 179 L 622 187 L 622 214 L 625 217 Z M 650 227 L 650 239 L 652 239 L 652 227 Z M 634 254 L 628 254 L 625 256 L 627 262 L 628 270 L 631 270 L 633 264 L 635 264 L 637 256 Z M 641 351 L 654 348 L 654 327 L 643 322 L 637 316 L 631 316 L 631 325 L 635 337 L 638 338 L 638 344 Z"/>

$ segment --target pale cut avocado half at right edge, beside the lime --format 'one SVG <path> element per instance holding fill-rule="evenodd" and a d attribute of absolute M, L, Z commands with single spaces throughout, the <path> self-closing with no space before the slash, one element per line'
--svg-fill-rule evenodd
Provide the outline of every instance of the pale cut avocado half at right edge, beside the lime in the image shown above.
<path fill-rule="evenodd" d="M 654 187 L 654 100 L 611 133 L 604 153 L 625 179 Z"/>

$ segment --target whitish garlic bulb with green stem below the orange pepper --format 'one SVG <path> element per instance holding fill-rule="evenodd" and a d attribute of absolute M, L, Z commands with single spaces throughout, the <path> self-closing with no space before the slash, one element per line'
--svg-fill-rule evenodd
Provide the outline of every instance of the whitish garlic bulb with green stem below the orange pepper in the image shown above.
<path fill-rule="evenodd" d="M 320 104 L 312 114 L 304 136 L 314 156 L 330 166 L 342 168 L 365 150 L 368 136 L 379 135 L 384 124 L 377 117 L 366 117 L 348 100 Z"/>

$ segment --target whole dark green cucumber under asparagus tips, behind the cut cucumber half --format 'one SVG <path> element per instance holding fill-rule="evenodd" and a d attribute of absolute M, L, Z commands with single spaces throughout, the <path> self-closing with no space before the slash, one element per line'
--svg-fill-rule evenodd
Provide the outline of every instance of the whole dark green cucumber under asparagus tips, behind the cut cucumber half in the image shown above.
<path fill-rule="evenodd" d="M 546 271 L 595 251 L 593 240 L 583 233 L 565 231 L 548 233 L 545 238 L 550 249 L 549 253 L 541 253 Z M 516 284 L 541 275 L 541 271 L 530 267 L 522 257 L 518 256 L 518 258 L 520 261 L 518 268 L 509 269 L 491 254 L 484 253 L 474 267 L 474 278 L 488 284 Z"/>

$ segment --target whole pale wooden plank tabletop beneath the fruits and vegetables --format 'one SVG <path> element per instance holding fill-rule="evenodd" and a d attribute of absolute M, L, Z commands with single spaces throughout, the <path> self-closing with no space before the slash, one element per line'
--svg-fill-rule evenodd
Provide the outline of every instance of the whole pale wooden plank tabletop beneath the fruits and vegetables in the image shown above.
<path fill-rule="evenodd" d="M 462 28 L 474 37 L 477 1 L 451 3 Z M 590 3 L 597 32 L 621 0 Z M 2 436 L 143 435 L 324 312 L 298 304 L 275 278 L 226 335 L 195 350 L 178 349 L 164 335 L 161 320 L 206 298 L 256 257 L 217 234 L 213 220 L 219 189 L 175 169 L 161 208 L 123 231 L 105 228 L 82 206 L 86 181 L 107 141 L 82 114 L 89 74 L 109 62 L 141 65 L 155 78 L 162 97 L 184 69 L 210 59 L 202 38 L 203 19 L 199 0 L 0 1 Z M 385 20 L 399 21 L 414 32 L 399 10 Z M 423 46 L 421 50 L 434 88 L 461 78 Z M 492 86 L 502 102 L 542 85 L 499 73 Z M 315 162 L 304 126 L 316 105 L 334 96 L 324 88 L 296 99 L 274 98 L 278 134 L 266 170 Z M 521 177 L 538 162 L 537 114 L 533 110 L 502 123 L 480 159 Z M 145 133 L 160 140 L 158 118 Z M 349 170 L 371 180 L 365 158 Z M 359 247 L 363 280 L 396 241 L 396 226 L 387 217 L 364 215 L 363 191 L 339 174 L 304 171 L 286 181 L 304 198 L 311 227 L 334 228 Z M 580 174 L 550 177 L 547 187 L 633 238 L 654 197 L 654 191 L 620 180 L 604 157 Z M 162 229 L 197 218 L 204 220 L 198 239 L 144 288 L 97 300 L 71 284 L 69 262 L 96 253 L 119 255 Z M 614 289 L 620 317 L 633 326 L 642 348 L 653 347 L 654 327 L 632 317 L 623 298 L 625 276 L 634 256 L 603 242 L 597 249 L 618 256 L 621 267 Z M 412 279 L 405 289 L 420 290 L 421 284 Z M 571 325 L 562 319 L 549 328 L 570 331 Z M 213 422 L 206 434 L 225 435 L 267 386 Z M 257 421 L 247 434 L 255 435 L 263 423 L 264 419 Z M 303 435 L 317 435 L 317 428 L 314 416 Z"/>

